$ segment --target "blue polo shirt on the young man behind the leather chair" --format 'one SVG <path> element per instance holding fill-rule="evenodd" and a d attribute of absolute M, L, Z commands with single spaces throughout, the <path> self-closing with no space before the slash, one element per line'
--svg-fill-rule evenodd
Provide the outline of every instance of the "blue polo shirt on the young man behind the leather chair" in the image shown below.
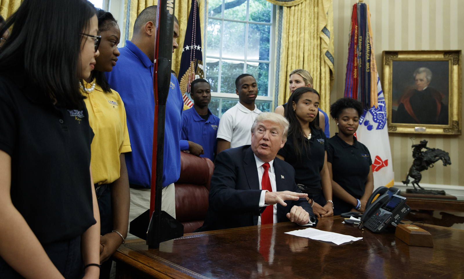
<path fill-rule="evenodd" d="M 205 154 L 200 157 L 209 158 L 214 162 L 218 141 L 219 117 L 213 115 L 208 109 L 208 119 L 200 117 L 195 108 L 184 110 L 182 115 L 182 135 L 183 140 L 198 143 L 203 147 Z"/>

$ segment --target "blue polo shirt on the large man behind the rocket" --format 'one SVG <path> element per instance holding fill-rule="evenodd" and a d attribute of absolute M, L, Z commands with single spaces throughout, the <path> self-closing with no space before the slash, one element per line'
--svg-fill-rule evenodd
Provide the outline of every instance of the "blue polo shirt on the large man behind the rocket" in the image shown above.
<path fill-rule="evenodd" d="M 126 108 L 132 147 L 132 152 L 125 153 L 129 183 L 150 188 L 155 121 L 153 62 L 129 40 L 119 52 L 116 66 L 113 71 L 105 72 L 105 76 Z M 179 83 L 171 74 L 164 130 L 163 187 L 179 179 L 180 150 L 188 149 L 187 141 L 180 141 L 183 104 Z"/>

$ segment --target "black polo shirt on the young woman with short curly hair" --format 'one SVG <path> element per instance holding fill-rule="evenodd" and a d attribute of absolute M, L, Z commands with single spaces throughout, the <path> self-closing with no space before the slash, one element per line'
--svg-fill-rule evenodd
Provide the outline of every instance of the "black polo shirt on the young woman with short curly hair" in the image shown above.
<path fill-rule="evenodd" d="M 354 137 L 353 145 L 342 140 L 338 133 L 329 138 L 327 149 L 327 162 L 332 163 L 333 179 L 345 191 L 356 199 L 364 195 L 367 175 L 369 174 L 372 159 L 367 147 Z M 353 205 L 342 201 L 334 195 L 334 214 L 348 212 Z"/>

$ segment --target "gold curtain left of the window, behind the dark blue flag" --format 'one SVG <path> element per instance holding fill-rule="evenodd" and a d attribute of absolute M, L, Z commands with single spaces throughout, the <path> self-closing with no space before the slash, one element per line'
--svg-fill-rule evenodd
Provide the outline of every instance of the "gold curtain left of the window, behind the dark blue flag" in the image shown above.
<path fill-rule="evenodd" d="M 201 44 L 202 48 L 205 45 L 205 3 L 206 0 L 197 0 L 198 5 L 199 5 L 199 13 L 200 13 L 200 28 L 201 28 Z M 157 0 L 130 0 L 130 6 L 129 6 L 129 25 L 126 25 L 127 23 L 127 6 L 128 6 L 128 0 L 124 1 L 124 32 L 125 33 L 125 28 L 128 26 L 128 31 L 129 31 L 129 40 L 132 38 L 132 32 L 134 29 L 134 22 L 137 16 L 139 15 L 140 12 L 142 12 L 143 9 L 145 9 L 148 6 L 153 6 L 153 5 L 158 5 Z M 187 21 L 188 21 L 188 16 L 190 13 L 190 7 L 192 6 L 192 0 L 176 0 L 175 1 L 175 9 L 174 9 L 174 15 L 176 18 L 179 20 L 179 33 L 180 37 L 177 39 L 177 43 L 179 44 L 179 48 L 175 50 L 173 53 L 173 64 L 172 64 L 172 69 L 178 74 L 179 73 L 179 68 L 180 68 L 180 57 L 182 55 L 182 47 L 184 45 L 184 39 L 185 39 L 185 32 L 187 29 Z M 122 28 L 121 28 L 122 29 Z M 122 36 L 124 37 L 124 36 Z M 204 48 L 203 48 L 204 49 Z"/>

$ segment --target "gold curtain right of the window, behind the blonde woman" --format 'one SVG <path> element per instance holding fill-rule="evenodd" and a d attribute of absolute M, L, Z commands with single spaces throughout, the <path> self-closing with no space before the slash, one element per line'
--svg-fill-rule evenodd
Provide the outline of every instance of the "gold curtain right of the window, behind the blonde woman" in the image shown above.
<path fill-rule="evenodd" d="M 321 94 L 322 110 L 328 111 L 334 82 L 332 0 L 292 2 L 300 3 L 277 9 L 273 96 L 278 97 L 274 97 L 274 106 L 286 103 L 290 97 L 290 72 L 305 69 L 313 77 L 314 89 Z"/>

